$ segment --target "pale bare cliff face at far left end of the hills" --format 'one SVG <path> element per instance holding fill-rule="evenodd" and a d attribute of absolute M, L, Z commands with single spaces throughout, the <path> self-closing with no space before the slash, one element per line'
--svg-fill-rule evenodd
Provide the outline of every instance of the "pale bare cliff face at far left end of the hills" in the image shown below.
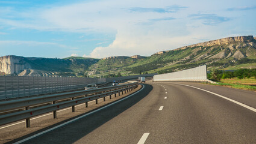
<path fill-rule="evenodd" d="M 31 65 L 21 56 L 0 57 L 0 72 L 5 74 L 19 74 L 21 71 L 31 68 Z"/>

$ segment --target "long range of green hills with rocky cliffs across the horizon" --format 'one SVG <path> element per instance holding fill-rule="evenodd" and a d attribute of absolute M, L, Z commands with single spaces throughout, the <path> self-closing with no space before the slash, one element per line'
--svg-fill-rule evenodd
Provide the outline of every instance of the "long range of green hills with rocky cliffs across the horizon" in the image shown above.
<path fill-rule="evenodd" d="M 169 73 L 207 64 L 208 70 L 256 68 L 256 40 L 253 36 L 221 38 L 192 44 L 151 56 L 112 56 L 103 59 L 0 57 L 1 75 L 106 77 L 139 73 Z"/>

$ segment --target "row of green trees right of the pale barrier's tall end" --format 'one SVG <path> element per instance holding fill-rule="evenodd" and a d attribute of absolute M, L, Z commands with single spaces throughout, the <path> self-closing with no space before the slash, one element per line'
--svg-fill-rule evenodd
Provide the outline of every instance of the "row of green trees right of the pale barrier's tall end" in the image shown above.
<path fill-rule="evenodd" d="M 254 77 L 256 79 L 256 68 L 242 68 L 234 71 L 222 71 L 214 69 L 213 71 L 211 71 L 211 73 L 207 74 L 207 78 L 214 81 L 220 81 L 220 79 L 230 79 L 233 77 L 237 77 L 239 79 Z"/>

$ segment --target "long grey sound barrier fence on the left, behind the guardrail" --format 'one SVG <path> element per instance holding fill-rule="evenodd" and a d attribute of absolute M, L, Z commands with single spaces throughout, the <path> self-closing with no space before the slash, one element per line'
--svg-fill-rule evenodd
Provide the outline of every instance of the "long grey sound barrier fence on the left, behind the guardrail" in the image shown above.
<path fill-rule="evenodd" d="M 102 79 L 89 77 L 0 76 L 0 100 L 83 89 L 88 83 L 101 84 L 113 82 L 113 80 L 129 80 L 136 79 L 139 76 L 149 77 L 154 75 L 142 74 Z"/>

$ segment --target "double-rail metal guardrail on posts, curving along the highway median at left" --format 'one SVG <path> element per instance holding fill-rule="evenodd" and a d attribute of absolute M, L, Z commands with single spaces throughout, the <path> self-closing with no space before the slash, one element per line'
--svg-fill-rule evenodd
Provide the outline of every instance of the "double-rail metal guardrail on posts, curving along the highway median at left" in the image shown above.
<path fill-rule="evenodd" d="M 8 113 L 5 115 L 0 115 L 0 125 L 9 124 L 11 122 L 20 121 L 22 119 L 26 119 L 27 127 L 30 127 L 30 118 L 38 115 L 42 115 L 44 113 L 53 112 L 54 118 L 57 118 L 56 110 L 64 109 L 66 107 L 72 106 L 72 112 L 75 112 L 75 105 L 86 103 L 86 107 L 88 107 L 89 101 L 96 101 L 98 103 L 99 98 L 104 98 L 111 95 L 115 95 L 118 93 L 120 96 L 120 92 L 131 91 L 137 86 L 139 83 L 129 83 L 126 85 L 118 85 L 118 86 L 109 86 L 105 88 L 92 89 L 87 91 L 77 91 L 77 92 L 66 92 L 63 94 L 52 94 L 52 95 L 44 95 L 40 97 L 31 97 L 31 98 L 22 98 L 17 100 L 10 101 L 1 101 L 0 102 L 0 110 L 2 112 L 14 109 L 24 108 L 20 112 Z M 90 95 L 93 94 L 93 95 Z M 87 96 L 90 95 L 90 96 Z M 63 101 L 67 100 L 67 101 Z M 47 104 L 51 103 L 51 104 Z M 47 104 L 47 105 L 46 105 Z M 40 106 L 42 105 L 42 106 Z M 36 108 L 30 109 L 30 107 L 37 106 Z"/>

